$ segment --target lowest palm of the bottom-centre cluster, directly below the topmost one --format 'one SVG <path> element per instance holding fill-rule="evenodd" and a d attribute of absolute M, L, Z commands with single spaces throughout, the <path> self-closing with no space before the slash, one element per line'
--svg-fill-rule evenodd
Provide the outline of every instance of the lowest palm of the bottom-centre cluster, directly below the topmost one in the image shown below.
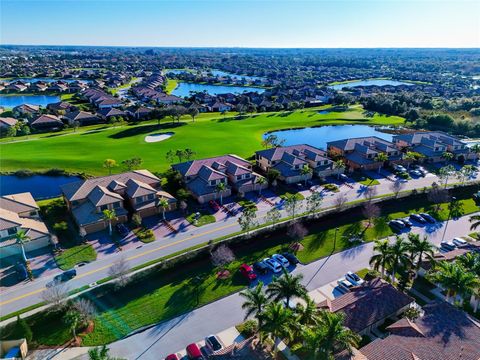
<path fill-rule="evenodd" d="M 280 302 L 269 303 L 264 311 L 259 315 L 261 325 L 259 333 L 262 339 L 271 339 L 273 345 L 273 358 L 277 358 L 279 340 L 292 338 L 292 322 L 294 320 L 293 312 L 285 308 Z"/>

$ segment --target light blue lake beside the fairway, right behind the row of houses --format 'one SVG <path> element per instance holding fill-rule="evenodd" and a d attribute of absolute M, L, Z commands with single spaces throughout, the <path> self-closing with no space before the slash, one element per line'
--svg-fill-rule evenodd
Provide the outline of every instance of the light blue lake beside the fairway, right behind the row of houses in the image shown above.
<path fill-rule="evenodd" d="M 285 145 L 308 144 L 321 149 L 327 148 L 327 142 L 346 138 L 378 136 L 381 139 L 392 141 L 392 134 L 375 130 L 367 125 L 335 125 L 304 128 L 296 130 L 273 131 L 266 135 L 276 135 L 285 140 Z"/>

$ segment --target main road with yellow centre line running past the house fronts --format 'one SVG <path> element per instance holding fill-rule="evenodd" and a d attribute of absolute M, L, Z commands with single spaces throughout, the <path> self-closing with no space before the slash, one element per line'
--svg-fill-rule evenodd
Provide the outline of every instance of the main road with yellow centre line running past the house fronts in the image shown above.
<path fill-rule="evenodd" d="M 480 174 L 477 179 L 480 179 Z M 391 193 L 392 190 L 390 187 L 392 182 L 386 179 L 379 180 L 380 184 L 375 186 L 377 194 Z M 428 174 L 425 178 L 406 182 L 404 190 L 422 189 L 425 186 L 431 186 L 434 181 L 438 182 L 436 176 Z M 340 187 L 341 192 L 345 193 L 347 201 L 363 199 L 365 188 L 365 186 L 358 183 L 354 183 L 352 188 L 344 185 Z M 309 195 L 309 191 L 305 193 L 307 196 Z M 336 196 L 337 194 L 326 193 L 322 207 L 332 206 Z M 259 221 L 262 222 L 266 210 L 261 210 L 257 214 Z M 285 212 L 283 212 L 283 216 L 286 216 Z M 126 258 L 130 266 L 134 267 L 239 230 L 240 227 L 237 223 L 237 218 L 229 217 L 225 220 L 202 226 L 201 228 L 188 229 L 188 231 L 185 232 L 172 234 L 171 236 L 157 239 L 157 241 L 153 243 L 139 245 L 137 248 L 112 254 L 81 268 L 77 268 L 77 277 L 71 280 L 68 285 L 71 289 L 76 289 L 107 277 L 111 264 L 121 257 Z M 37 278 L 32 282 L 24 282 L 7 289 L 2 289 L 0 293 L 0 315 L 7 315 L 41 302 L 41 293 L 45 289 L 46 283 L 52 281 L 53 276 L 60 272 L 60 270 L 49 272 L 48 276 Z"/>

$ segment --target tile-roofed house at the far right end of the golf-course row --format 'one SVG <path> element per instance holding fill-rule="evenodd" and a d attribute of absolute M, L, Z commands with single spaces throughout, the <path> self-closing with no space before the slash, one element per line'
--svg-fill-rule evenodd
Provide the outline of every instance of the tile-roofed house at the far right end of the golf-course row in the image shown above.
<path fill-rule="evenodd" d="M 448 151 L 460 162 L 476 158 L 467 143 L 441 131 L 415 132 L 395 135 L 394 144 L 399 149 L 406 149 L 422 154 L 427 162 L 445 161 L 442 155 Z"/>

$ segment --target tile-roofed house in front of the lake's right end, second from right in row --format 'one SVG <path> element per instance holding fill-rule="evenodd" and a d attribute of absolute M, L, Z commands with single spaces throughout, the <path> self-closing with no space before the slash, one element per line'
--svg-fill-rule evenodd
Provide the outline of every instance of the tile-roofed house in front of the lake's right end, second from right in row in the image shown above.
<path fill-rule="evenodd" d="M 330 153 L 342 156 L 350 170 L 378 170 L 382 162 L 376 161 L 380 153 L 387 155 L 386 164 L 403 164 L 402 152 L 390 141 L 376 136 L 343 139 L 327 143 Z"/>

